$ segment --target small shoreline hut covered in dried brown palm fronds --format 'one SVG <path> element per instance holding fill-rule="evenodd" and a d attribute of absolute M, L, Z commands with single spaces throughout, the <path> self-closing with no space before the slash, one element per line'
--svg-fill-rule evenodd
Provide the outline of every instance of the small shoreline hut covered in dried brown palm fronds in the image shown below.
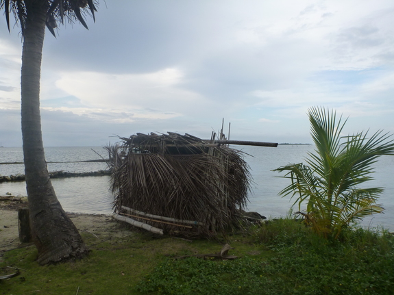
<path fill-rule="evenodd" d="M 204 225 L 193 226 L 204 235 L 225 232 L 237 224 L 237 212 L 247 203 L 251 181 L 240 151 L 187 133 L 137 133 L 121 140 L 121 145 L 108 147 L 114 166 L 114 211 L 129 207 L 193 220 Z M 147 218 L 143 222 L 164 231 L 184 230 Z"/>

